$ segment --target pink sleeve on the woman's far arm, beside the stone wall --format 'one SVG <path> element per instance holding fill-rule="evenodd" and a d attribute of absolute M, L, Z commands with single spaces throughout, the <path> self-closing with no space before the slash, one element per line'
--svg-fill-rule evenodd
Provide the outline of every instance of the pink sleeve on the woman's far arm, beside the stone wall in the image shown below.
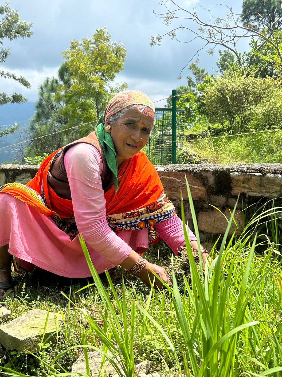
<path fill-rule="evenodd" d="M 180 247 L 185 245 L 183 223 L 180 218 L 177 215 L 174 215 L 170 219 L 160 222 L 155 226 L 161 238 L 171 248 L 171 250 L 177 254 Z M 197 241 L 194 233 L 189 228 L 188 230 L 190 241 Z"/>

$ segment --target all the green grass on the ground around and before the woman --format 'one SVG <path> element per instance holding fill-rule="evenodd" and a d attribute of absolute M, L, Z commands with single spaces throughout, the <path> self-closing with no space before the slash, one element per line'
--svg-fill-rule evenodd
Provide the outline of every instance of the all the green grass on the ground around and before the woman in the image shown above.
<path fill-rule="evenodd" d="M 191 195 L 190 207 L 197 235 Z M 183 252 L 182 257 L 171 258 L 164 244 L 150 248 L 145 257 L 166 266 L 173 277 L 173 287 L 164 291 L 145 287 L 122 268 L 118 268 L 117 279 L 111 281 L 107 274 L 101 282 L 91 261 L 93 279 L 89 283 L 94 280 L 94 285 L 87 286 L 87 279 L 72 280 L 70 285 L 70 280 L 51 274 L 45 282 L 35 274 L 17 276 L 14 296 L 5 298 L 13 316 L 30 308 L 60 311 L 65 328 L 57 345 L 47 342 L 36 355 L 2 349 L 0 373 L 61 375 L 70 371 L 86 349 L 102 353 L 109 349 L 107 358 L 114 365 L 119 348 L 128 377 L 134 376 L 133 359 L 135 364 L 150 360 L 151 371 L 166 376 L 279 376 L 280 216 L 281 208 L 257 213 L 240 236 L 228 239 L 231 218 L 223 241 L 212 251 L 212 265 L 206 265 L 205 271 L 201 262 L 194 262 L 188 234 L 187 254 Z M 86 309 L 89 316 L 85 318 L 79 308 Z"/>

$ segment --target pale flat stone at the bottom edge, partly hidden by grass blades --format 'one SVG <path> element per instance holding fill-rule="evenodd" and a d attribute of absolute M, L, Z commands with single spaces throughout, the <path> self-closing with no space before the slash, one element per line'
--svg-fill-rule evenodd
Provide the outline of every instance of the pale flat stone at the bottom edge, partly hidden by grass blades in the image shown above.
<path fill-rule="evenodd" d="M 93 377 L 98 377 L 98 376 L 100 377 L 101 375 L 105 375 L 105 377 L 109 375 L 112 375 L 112 377 L 117 376 L 117 372 L 115 368 L 112 366 L 112 364 L 109 362 L 108 359 L 105 359 L 101 373 L 99 372 L 101 368 L 102 358 L 103 358 L 103 355 L 99 351 L 88 352 L 88 362 L 89 362 L 89 368 L 90 368 L 92 376 Z M 120 367 L 120 370 L 122 371 L 119 357 L 118 357 L 118 361 L 115 359 L 115 362 L 117 363 L 117 365 Z M 142 363 L 135 365 L 135 374 L 136 375 L 146 374 L 149 371 L 149 369 L 150 369 L 150 362 L 149 360 L 145 360 Z M 73 363 L 71 372 L 86 374 L 84 354 L 80 355 L 79 358 L 76 360 L 76 362 Z"/>

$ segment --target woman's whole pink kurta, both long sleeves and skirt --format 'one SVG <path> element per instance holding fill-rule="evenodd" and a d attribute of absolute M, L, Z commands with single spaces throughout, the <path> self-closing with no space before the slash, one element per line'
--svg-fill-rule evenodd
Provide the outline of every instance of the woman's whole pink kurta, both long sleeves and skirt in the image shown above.
<path fill-rule="evenodd" d="M 133 249 L 148 249 L 148 229 L 114 233 L 106 221 L 106 201 L 102 188 L 102 159 L 89 144 L 76 144 L 64 157 L 71 189 L 77 229 L 85 242 L 98 273 L 118 265 Z M 48 218 L 13 196 L 0 195 L 0 246 L 9 244 L 9 252 L 44 270 L 67 277 L 88 277 L 89 268 L 78 237 L 70 240 Z M 182 221 L 174 215 L 156 225 L 162 239 L 175 252 L 184 245 Z M 190 231 L 190 240 L 196 237 Z"/>

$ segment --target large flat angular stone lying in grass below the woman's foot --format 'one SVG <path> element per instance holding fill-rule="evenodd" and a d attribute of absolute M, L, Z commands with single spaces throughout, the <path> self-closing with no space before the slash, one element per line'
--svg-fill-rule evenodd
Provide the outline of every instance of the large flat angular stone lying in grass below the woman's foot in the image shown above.
<path fill-rule="evenodd" d="M 0 327 L 0 343 L 6 349 L 17 349 L 19 352 L 39 350 L 38 343 L 42 341 L 48 312 L 46 310 L 33 309 L 21 316 L 5 323 Z M 59 329 L 62 328 L 61 314 L 50 313 L 46 324 L 44 341 L 51 336 L 54 341 L 53 333 L 56 333 L 56 318 L 58 315 Z"/>

